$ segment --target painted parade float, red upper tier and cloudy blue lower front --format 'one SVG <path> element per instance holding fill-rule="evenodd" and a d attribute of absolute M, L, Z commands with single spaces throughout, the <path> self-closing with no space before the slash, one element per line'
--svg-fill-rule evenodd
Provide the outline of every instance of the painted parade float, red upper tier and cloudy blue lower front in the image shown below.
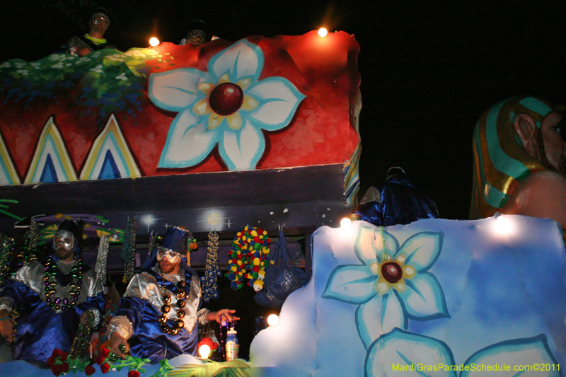
<path fill-rule="evenodd" d="M 357 191 L 358 51 L 352 35 L 311 32 L 0 65 L 3 233 L 14 216 L 67 212 L 123 228 L 131 216 L 163 218 L 195 233 L 286 224 L 311 237 L 311 279 L 255 336 L 249 361 L 54 354 L 56 372 L 562 376 L 555 221 L 339 226 Z M 52 375 L 23 361 L 0 372 Z"/>

